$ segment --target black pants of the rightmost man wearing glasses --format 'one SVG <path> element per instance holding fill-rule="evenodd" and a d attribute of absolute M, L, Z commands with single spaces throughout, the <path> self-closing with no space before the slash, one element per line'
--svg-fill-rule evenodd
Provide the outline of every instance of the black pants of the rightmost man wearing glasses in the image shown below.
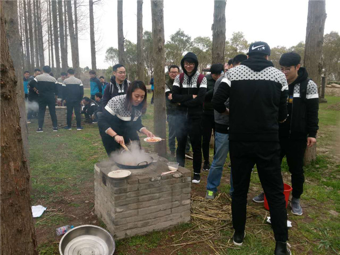
<path fill-rule="evenodd" d="M 307 146 L 306 140 L 292 140 L 280 137 L 281 162 L 284 156 L 287 158 L 289 172 L 291 173 L 292 196 L 300 198 L 304 191 L 304 156 Z"/>

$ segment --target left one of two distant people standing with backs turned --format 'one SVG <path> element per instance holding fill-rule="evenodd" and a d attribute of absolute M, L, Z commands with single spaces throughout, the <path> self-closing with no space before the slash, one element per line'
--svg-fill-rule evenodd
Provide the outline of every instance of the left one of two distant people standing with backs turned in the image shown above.
<path fill-rule="evenodd" d="M 57 101 L 57 80 L 50 75 L 51 67 L 44 66 L 43 74 L 34 78 L 30 83 L 33 90 L 39 94 L 39 114 L 38 129 L 36 132 L 43 132 L 46 106 L 49 106 L 53 131 L 58 131 L 57 115 L 55 113 L 55 103 Z"/>

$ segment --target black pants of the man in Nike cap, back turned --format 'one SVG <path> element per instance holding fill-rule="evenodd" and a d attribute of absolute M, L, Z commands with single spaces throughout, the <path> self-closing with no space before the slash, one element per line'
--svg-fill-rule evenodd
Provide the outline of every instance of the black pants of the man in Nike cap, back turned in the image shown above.
<path fill-rule="evenodd" d="M 268 200 L 276 241 L 288 240 L 287 210 L 283 194 L 279 142 L 229 141 L 233 166 L 231 209 L 233 227 L 243 233 L 246 224 L 247 194 L 253 166 L 256 164 L 262 188 Z"/>

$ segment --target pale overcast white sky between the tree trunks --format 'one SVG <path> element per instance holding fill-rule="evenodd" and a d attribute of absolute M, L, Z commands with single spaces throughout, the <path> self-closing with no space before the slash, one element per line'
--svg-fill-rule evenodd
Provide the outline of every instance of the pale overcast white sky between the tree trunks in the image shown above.
<path fill-rule="evenodd" d="M 88 6 L 82 7 L 86 13 Z M 324 34 L 340 33 L 340 0 L 326 0 Z M 248 42 L 265 41 L 271 47 L 296 45 L 306 39 L 308 0 L 227 0 L 225 8 L 226 39 L 234 32 L 243 32 Z M 136 0 L 123 0 L 123 32 L 125 39 L 137 42 Z M 165 42 L 178 29 L 194 39 L 212 39 L 213 0 L 164 0 Z M 108 68 L 104 61 L 109 47 L 118 48 L 117 0 L 102 0 L 94 6 L 97 49 L 97 68 Z M 85 21 L 86 22 L 86 21 Z M 88 21 L 89 23 L 89 21 Z M 143 31 L 152 31 L 151 1 L 143 2 Z M 80 66 L 91 68 L 88 31 L 80 31 Z M 99 38 L 99 39 L 98 39 Z M 69 60 L 71 58 L 69 57 Z"/>

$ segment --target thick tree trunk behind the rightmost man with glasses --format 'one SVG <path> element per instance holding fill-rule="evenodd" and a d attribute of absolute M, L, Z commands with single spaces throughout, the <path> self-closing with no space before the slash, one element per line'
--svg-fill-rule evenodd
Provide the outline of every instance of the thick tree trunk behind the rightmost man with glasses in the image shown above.
<path fill-rule="evenodd" d="M 322 73 L 323 31 L 326 20 L 325 0 L 309 0 L 304 67 L 320 92 Z M 319 93 L 320 94 L 320 93 Z M 306 149 L 305 165 L 316 159 L 316 144 Z"/>

